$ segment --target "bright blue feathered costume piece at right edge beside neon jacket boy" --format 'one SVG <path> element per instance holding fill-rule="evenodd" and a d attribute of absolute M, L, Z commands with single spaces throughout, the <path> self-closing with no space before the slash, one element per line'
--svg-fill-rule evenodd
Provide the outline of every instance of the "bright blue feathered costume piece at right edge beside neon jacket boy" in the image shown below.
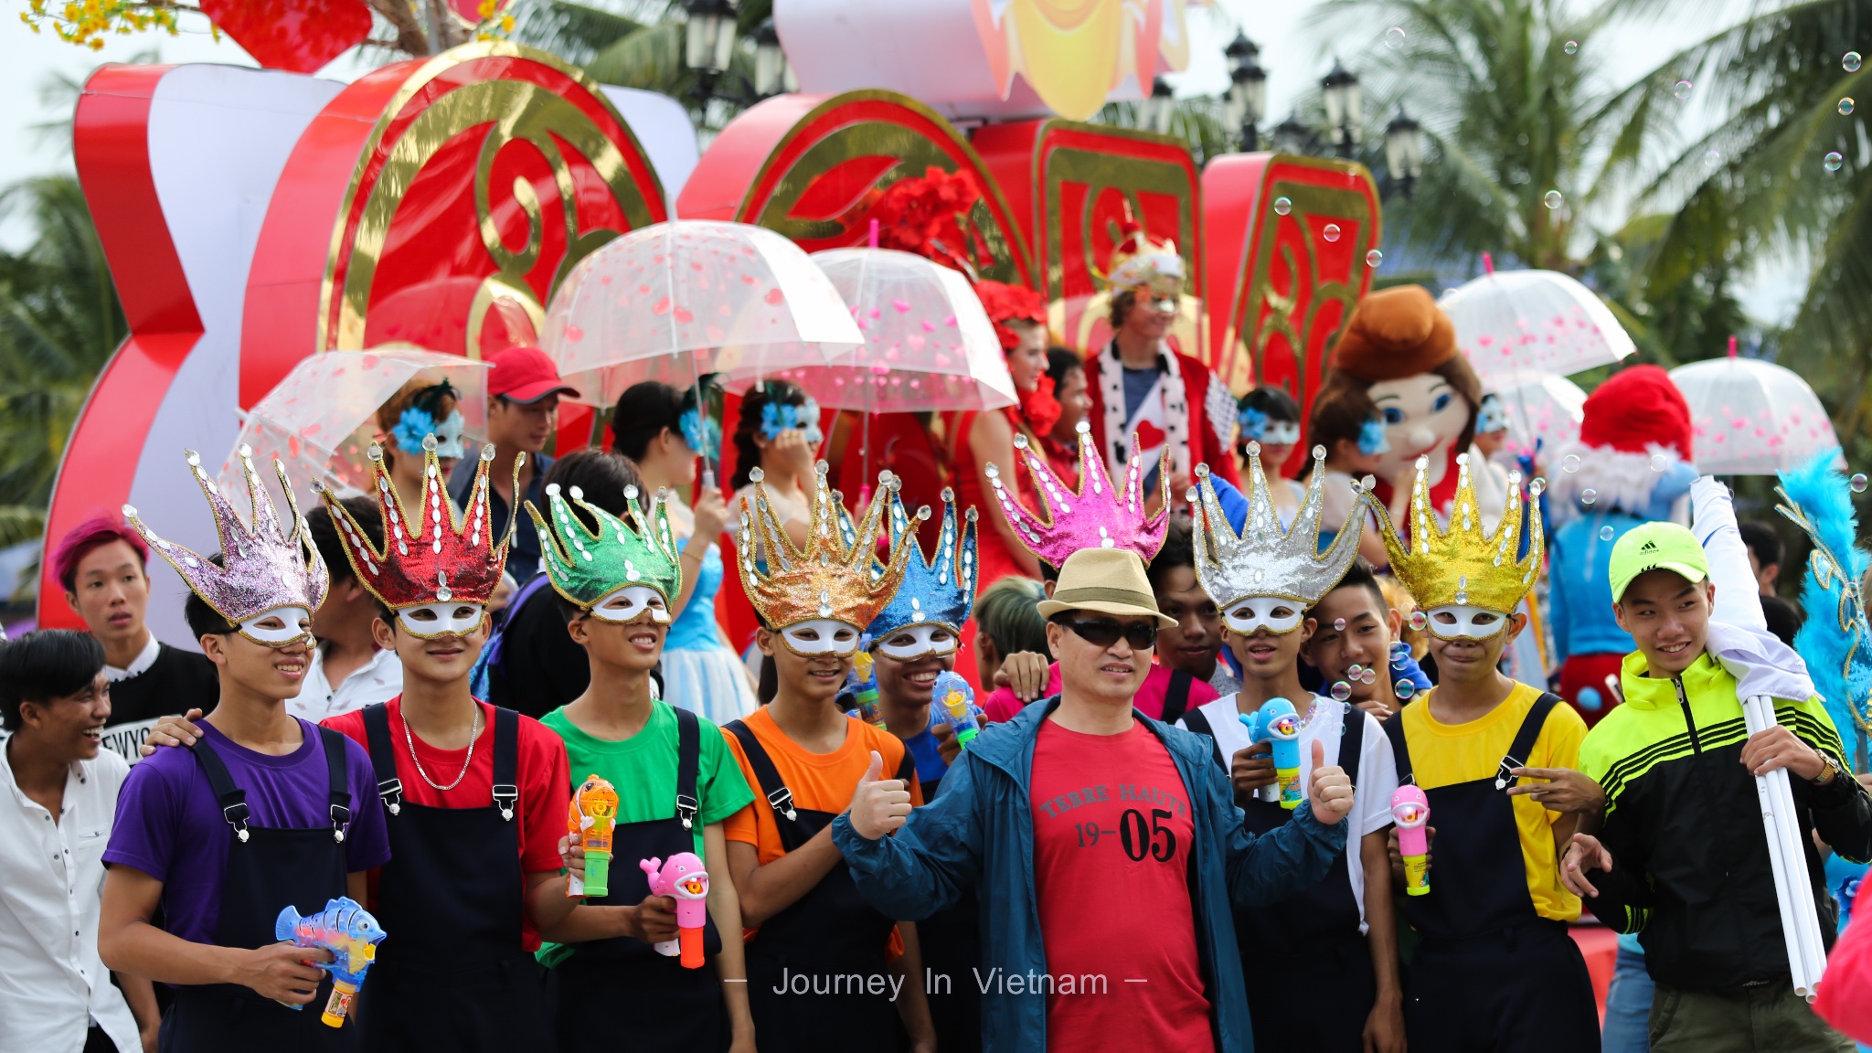
<path fill-rule="evenodd" d="M 1855 772 L 1868 770 L 1866 733 L 1872 716 L 1872 624 L 1866 624 L 1865 579 L 1872 556 L 1857 545 L 1846 476 L 1835 468 L 1840 452 L 1827 450 L 1792 472 L 1782 472 L 1778 512 L 1814 541 L 1806 558 L 1801 605 L 1806 622 L 1793 648 L 1806 661 L 1814 688 L 1827 703 L 1840 738 L 1851 746 Z"/>

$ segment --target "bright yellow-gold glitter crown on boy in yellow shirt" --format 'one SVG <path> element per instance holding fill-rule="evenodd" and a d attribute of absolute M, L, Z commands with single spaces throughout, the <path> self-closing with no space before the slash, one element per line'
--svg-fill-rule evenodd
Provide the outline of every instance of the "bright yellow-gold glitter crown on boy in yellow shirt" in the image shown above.
<path fill-rule="evenodd" d="M 1509 502 L 1494 536 L 1483 532 L 1483 512 L 1475 506 L 1475 483 L 1470 478 L 1470 455 L 1456 455 L 1456 502 L 1449 512 L 1449 530 L 1440 530 L 1430 506 L 1428 457 L 1417 457 L 1417 483 L 1411 489 L 1410 541 L 1398 538 L 1397 526 L 1383 504 L 1378 512 L 1380 534 L 1391 555 L 1391 573 L 1410 588 L 1417 607 L 1466 605 L 1509 615 L 1522 596 L 1533 588 L 1541 571 L 1544 538 L 1541 513 L 1528 515 L 1528 555 L 1516 560 L 1522 543 L 1520 472 L 1509 474 Z M 1535 480 L 1529 497 L 1539 498 L 1546 483 Z"/>

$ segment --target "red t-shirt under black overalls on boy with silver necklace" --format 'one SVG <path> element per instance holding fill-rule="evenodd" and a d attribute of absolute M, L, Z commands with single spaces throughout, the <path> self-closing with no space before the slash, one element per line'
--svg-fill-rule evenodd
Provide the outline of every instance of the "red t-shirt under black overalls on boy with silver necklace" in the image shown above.
<path fill-rule="evenodd" d="M 468 749 L 436 749 L 412 734 L 402 734 L 402 695 L 397 695 L 386 708 L 389 710 L 389 744 L 397 757 L 397 778 L 402 781 L 402 800 L 425 808 L 492 808 L 494 806 L 494 706 L 481 706 L 481 734 L 474 742 L 474 761 L 468 774 L 451 791 L 438 791 L 429 785 L 410 761 L 410 742 L 416 742 L 416 755 L 423 761 L 429 778 L 447 785 L 462 772 Z M 363 733 L 363 710 L 352 710 L 326 718 L 324 727 L 371 748 Z M 515 834 L 520 843 L 520 871 L 541 873 L 560 869 L 560 838 L 565 834 L 565 808 L 573 796 L 573 778 L 565 763 L 565 742 L 552 729 L 530 716 L 520 718 L 520 753 L 515 759 L 515 783 L 520 787 L 520 804 L 513 813 L 519 824 Z M 373 802 L 382 808 L 380 802 Z M 356 806 L 352 806 L 356 808 Z M 395 819 L 391 819 L 395 823 Z M 389 866 L 397 866 L 391 856 Z M 515 896 L 526 897 L 526 888 L 515 888 Z M 376 907 L 376 871 L 371 871 L 371 907 Z M 520 939 L 524 950 L 539 950 L 539 931 L 534 918 L 520 911 Z"/>

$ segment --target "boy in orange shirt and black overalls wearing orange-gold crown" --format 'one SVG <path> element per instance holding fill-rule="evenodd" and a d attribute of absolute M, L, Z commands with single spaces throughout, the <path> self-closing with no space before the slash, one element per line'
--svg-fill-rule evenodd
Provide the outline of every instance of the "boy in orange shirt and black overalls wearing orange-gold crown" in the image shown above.
<path fill-rule="evenodd" d="M 889 1049 L 893 1008 L 925 1053 L 934 1049 L 936 1032 L 915 927 L 895 926 L 902 952 L 893 959 L 893 920 L 865 903 L 831 843 L 831 821 L 859 781 L 897 772 L 904 813 L 921 802 L 904 744 L 835 704 L 863 628 L 902 583 L 915 534 L 899 538 L 884 575 L 874 577 L 889 493 L 880 485 L 882 500 L 854 532 L 831 498 L 824 461 L 818 472 L 803 551 L 781 528 L 758 470 L 753 508 L 743 500 L 741 510 L 741 581 L 760 613 L 760 650 L 779 673 L 773 701 L 724 729 L 756 798 L 766 798 L 723 826 L 730 879 L 751 929 L 747 995 L 762 1053 Z M 756 530 L 769 553 L 764 571 L 749 555 Z"/>

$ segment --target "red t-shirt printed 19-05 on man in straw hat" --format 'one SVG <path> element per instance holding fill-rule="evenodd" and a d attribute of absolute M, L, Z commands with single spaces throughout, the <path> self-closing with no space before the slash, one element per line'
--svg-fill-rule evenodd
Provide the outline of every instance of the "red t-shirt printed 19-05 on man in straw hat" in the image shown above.
<path fill-rule="evenodd" d="M 1033 882 L 1052 984 L 1046 1049 L 1213 1053 L 1192 839 L 1183 776 L 1148 727 L 1082 734 L 1041 723 Z"/>

